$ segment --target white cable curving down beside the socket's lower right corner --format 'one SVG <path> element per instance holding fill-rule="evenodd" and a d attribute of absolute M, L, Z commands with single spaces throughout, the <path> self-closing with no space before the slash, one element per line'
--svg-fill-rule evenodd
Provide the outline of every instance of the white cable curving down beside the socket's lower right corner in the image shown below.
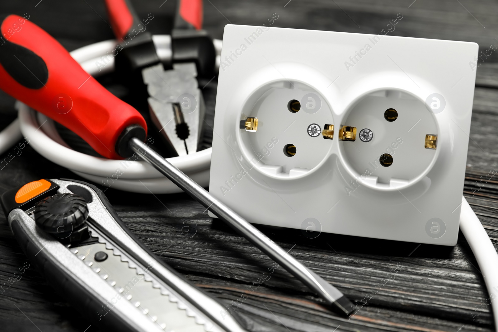
<path fill-rule="evenodd" d="M 485 300 L 485 304 L 492 304 L 495 330 L 498 331 L 498 254 L 486 229 L 484 229 L 483 224 L 479 221 L 465 197 L 462 197 L 460 229 L 481 268 L 481 273 L 490 295 L 489 299 Z"/>

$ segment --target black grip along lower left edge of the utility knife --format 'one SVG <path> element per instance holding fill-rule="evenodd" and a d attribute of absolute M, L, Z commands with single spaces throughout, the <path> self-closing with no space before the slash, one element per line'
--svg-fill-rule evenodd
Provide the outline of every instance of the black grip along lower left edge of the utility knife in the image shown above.
<path fill-rule="evenodd" d="M 80 285 L 76 279 L 55 264 L 43 250 L 30 241 L 28 234 L 13 220 L 12 233 L 21 246 L 30 262 L 33 263 L 54 290 L 64 297 L 81 314 L 85 315 L 92 324 L 104 326 L 110 331 L 137 332 L 126 324 L 113 310 L 104 310 L 105 304 L 94 296 L 89 290 Z M 103 316 L 105 314 L 105 316 Z"/>

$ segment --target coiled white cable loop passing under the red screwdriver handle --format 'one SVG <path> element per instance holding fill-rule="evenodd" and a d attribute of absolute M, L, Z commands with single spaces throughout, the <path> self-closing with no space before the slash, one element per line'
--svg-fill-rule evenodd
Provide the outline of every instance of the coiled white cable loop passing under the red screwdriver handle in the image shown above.
<path fill-rule="evenodd" d="M 114 57 L 110 54 L 115 48 L 116 41 L 107 40 L 74 50 L 71 52 L 71 56 L 90 75 L 98 76 L 114 70 Z M 218 53 L 219 47 L 217 47 Z M 97 66 L 97 62 L 101 64 L 100 68 Z M 29 139 L 29 144 L 45 158 L 70 169 L 83 178 L 109 188 L 135 193 L 182 192 L 180 188 L 162 176 L 147 162 L 132 159 L 111 160 L 77 152 L 71 149 L 59 136 L 51 119 L 22 103 L 18 103 L 18 110 L 20 130 Z M 13 140 L 13 142 L 15 141 Z M 201 186 L 208 186 L 211 148 L 186 156 L 168 158 L 168 161 Z"/>

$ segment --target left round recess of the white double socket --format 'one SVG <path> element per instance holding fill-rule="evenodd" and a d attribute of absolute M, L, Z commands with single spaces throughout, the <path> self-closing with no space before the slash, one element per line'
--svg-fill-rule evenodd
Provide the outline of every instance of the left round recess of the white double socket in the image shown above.
<path fill-rule="evenodd" d="M 305 176 L 329 154 L 321 131 L 334 124 L 332 111 L 311 86 L 294 81 L 265 84 L 249 96 L 241 114 L 257 117 L 257 129 L 241 130 L 245 157 L 261 173 L 281 179 Z M 246 127 L 249 128 L 249 127 Z"/>

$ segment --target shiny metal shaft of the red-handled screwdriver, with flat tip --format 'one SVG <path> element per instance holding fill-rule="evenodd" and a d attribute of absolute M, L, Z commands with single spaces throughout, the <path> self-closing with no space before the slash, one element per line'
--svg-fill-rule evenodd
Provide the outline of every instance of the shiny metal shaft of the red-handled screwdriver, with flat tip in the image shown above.
<path fill-rule="evenodd" d="M 218 218 L 227 222 L 232 228 L 245 236 L 261 251 L 301 280 L 305 285 L 322 297 L 328 305 L 335 307 L 339 310 L 339 312 L 348 316 L 355 311 L 353 303 L 349 301 L 337 288 L 298 262 L 269 237 L 264 235 L 256 227 L 251 225 L 248 221 L 239 216 L 225 204 L 214 198 L 208 191 L 195 183 L 182 171 L 173 166 L 170 162 L 161 157 L 161 155 L 145 145 L 138 138 L 131 138 L 129 141 L 129 147 L 136 154 L 154 166 L 159 172 L 164 174 L 169 180 L 171 180 L 171 182 L 183 189 L 196 201 L 204 205 Z"/>

